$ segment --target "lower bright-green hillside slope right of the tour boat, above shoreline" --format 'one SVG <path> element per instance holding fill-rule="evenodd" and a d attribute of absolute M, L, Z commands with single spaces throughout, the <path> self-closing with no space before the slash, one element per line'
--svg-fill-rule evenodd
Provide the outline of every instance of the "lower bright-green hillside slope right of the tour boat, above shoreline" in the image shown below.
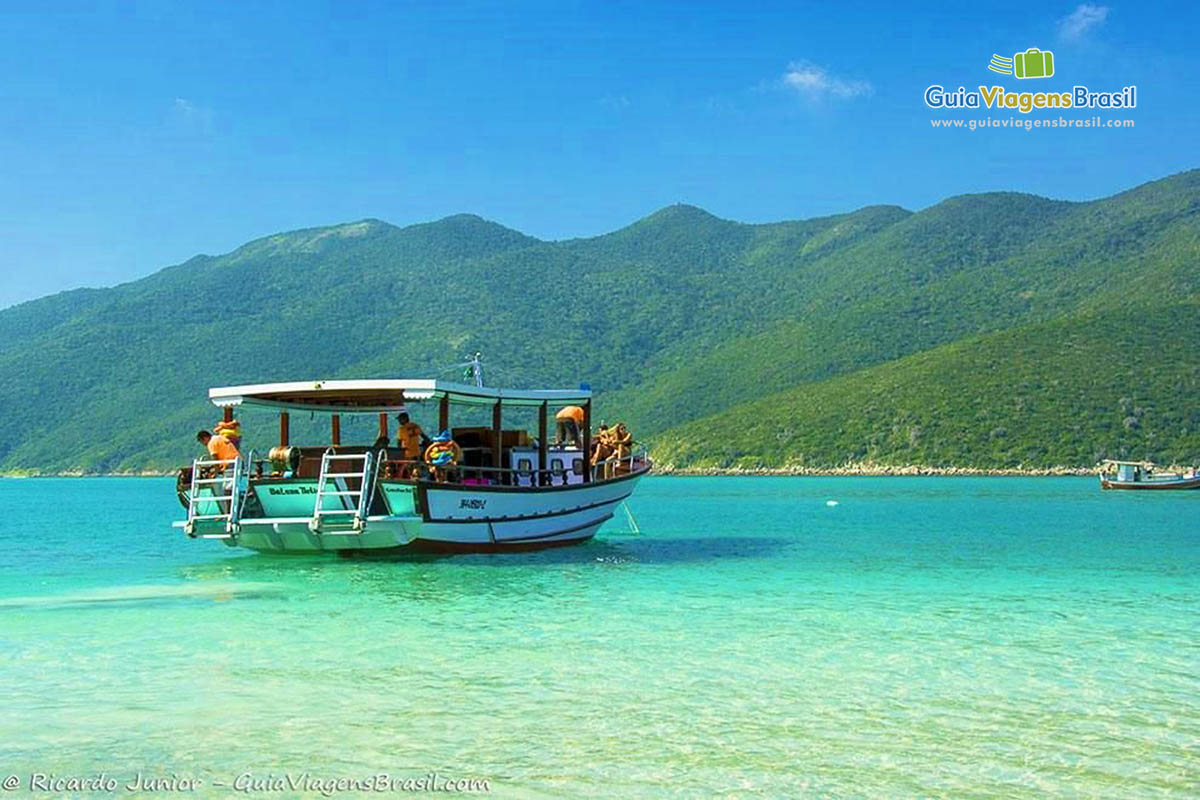
<path fill-rule="evenodd" d="M 721 468 L 1200 464 L 1198 320 L 1193 300 L 972 337 L 673 428 L 655 452 Z"/>

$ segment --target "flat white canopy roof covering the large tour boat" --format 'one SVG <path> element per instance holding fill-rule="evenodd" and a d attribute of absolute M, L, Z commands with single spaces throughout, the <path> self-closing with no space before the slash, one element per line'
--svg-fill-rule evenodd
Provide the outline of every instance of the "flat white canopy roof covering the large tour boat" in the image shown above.
<path fill-rule="evenodd" d="M 589 389 L 488 389 L 433 379 L 299 380 L 282 384 L 250 384 L 209 390 L 214 405 L 256 405 L 306 411 L 403 411 L 406 403 L 450 398 L 451 403 L 493 405 L 541 405 L 586 403 Z"/>

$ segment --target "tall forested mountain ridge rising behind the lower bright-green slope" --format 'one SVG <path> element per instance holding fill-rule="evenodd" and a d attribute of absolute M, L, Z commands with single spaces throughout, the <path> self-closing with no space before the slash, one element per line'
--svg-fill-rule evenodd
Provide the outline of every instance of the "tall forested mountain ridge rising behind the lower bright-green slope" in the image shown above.
<path fill-rule="evenodd" d="M 775 223 L 672 205 L 559 241 L 476 215 L 286 231 L 0 311 L 0 470 L 166 468 L 211 423 L 209 385 L 430 374 L 475 349 L 498 385 L 588 380 L 599 413 L 665 447 L 960 339 L 1166 313 L 1200 293 L 1198 258 L 1200 170 L 1084 203 L 991 192 Z"/>

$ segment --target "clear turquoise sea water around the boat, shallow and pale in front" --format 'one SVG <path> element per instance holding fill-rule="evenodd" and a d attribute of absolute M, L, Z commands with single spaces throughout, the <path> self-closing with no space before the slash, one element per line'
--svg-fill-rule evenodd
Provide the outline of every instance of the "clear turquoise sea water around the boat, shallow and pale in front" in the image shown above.
<path fill-rule="evenodd" d="M 169 480 L 0 480 L 0 774 L 1200 794 L 1200 493 L 696 477 L 630 506 L 641 535 L 354 561 L 190 541 Z"/>

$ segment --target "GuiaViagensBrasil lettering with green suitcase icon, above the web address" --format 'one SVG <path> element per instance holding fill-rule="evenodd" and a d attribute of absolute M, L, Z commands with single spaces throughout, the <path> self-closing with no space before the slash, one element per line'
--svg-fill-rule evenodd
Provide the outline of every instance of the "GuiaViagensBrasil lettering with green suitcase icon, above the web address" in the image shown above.
<path fill-rule="evenodd" d="M 988 70 L 1018 80 L 1052 78 L 1056 74 L 1054 53 L 1031 47 L 1014 53 L 1013 58 L 992 54 Z M 1118 91 L 1092 91 L 1084 85 L 1074 85 L 1057 91 L 1009 91 L 1004 86 L 979 85 L 976 90 L 959 86 L 949 90 L 942 84 L 925 89 L 925 106 L 938 109 L 1012 109 L 1021 114 L 1054 109 L 1136 108 L 1138 86 L 1124 86 Z"/>

